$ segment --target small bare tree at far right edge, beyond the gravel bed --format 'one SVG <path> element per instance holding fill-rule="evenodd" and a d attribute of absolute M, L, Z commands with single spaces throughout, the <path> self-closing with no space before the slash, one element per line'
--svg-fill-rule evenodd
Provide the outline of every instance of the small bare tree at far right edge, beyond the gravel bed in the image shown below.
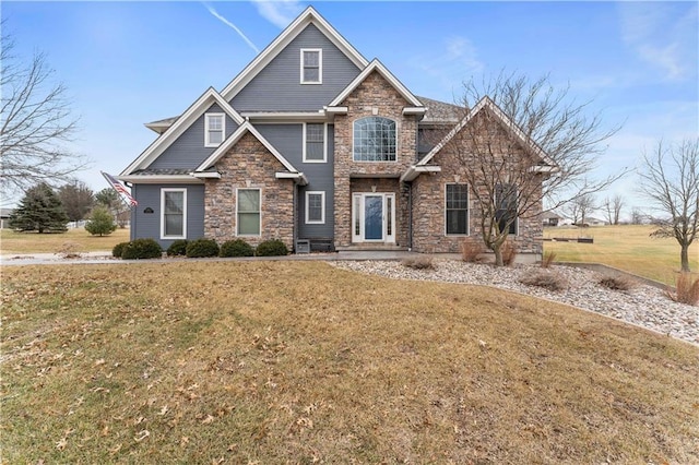
<path fill-rule="evenodd" d="M 680 247 L 682 271 L 689 271 L 689 246 L 699 231 L 699 138 L 677 144 L 657 143 L 643 154 L 640 191 L 661 212 L 654 237 L 674 237 Z"/>

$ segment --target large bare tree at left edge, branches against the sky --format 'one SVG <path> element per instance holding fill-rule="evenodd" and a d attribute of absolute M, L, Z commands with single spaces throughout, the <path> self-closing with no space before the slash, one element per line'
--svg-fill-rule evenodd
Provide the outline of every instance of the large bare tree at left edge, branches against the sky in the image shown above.
<path fill-rule="evenodd" d="M 36 52 L 25 62 L 13 55 L 9 36 L 1 40 L 0 190 L 8 193 L 40 182 L 68 181 L 87 160 L 64 147 L 76 129 L 67 90 L 51 82 L 54 71 L 44 53 Z"/>

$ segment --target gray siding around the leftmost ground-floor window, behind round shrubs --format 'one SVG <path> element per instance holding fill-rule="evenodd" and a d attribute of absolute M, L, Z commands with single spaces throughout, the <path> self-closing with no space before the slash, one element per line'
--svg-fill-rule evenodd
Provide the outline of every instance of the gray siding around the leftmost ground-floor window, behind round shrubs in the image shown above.
<path fill-rule="evenodd" d="M 204 237 L 204 186 L 203 184 L 133 184 L 131 192 L 139 202 L 131 213 L 131 239 L 152 238 L 163 249 L 171 239 L 161 239 L 161 189 L 187 189 L 187 239 Z M 152 208 L 153 213 L 144 213 Z"/>

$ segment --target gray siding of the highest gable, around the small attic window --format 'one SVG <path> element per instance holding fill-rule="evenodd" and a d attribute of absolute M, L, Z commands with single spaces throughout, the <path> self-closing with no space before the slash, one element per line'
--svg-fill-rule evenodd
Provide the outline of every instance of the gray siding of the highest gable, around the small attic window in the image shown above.
<path fill-rule="evenodd" d="M 322 49 L 322 84 L 300 84 L 300 49 Z M 328 105 L 359 69 L 309 24 L 230 102 L 238 111 L 309 111 Z"/>

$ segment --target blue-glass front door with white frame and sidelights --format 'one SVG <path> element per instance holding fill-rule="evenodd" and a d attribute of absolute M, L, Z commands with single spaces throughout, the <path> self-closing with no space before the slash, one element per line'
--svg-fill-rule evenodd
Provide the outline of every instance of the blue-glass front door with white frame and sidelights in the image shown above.
<path fill-rule="evenodd" d="M 353 242 L 395 242 L 395 194 L 355 193 L 352 206 Z"/>

